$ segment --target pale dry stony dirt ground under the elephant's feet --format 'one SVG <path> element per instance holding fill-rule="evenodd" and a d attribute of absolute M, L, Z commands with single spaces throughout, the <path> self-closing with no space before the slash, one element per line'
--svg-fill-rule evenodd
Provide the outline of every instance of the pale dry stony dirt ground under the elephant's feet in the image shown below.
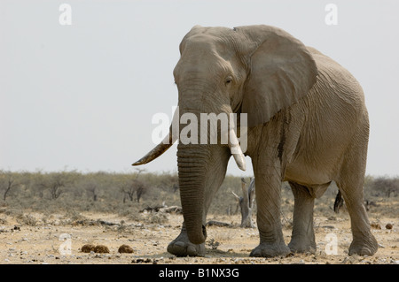
<path fill-rule="evenodd" d="M 157 222 L 156 218 L 160 220 Z M 43 220 L 45 218 L 45 220 Z M 292 254 L 287 257 L 253 258 L 249 253 L 259 242 L 257 229 L 239 227 L 239 216 L 208 217 L 231 226 L 207 227 L 205 257 L 176 257 L 166 251 L 168 243 L 180 232 L 182 215 L 141 214 L 140 220 L 113 214 L 82 213 L 81 220 L 66 220 L 62 215 L 28 214 L 26 224 L 1 215 L 0 264 L 38 263 L 167 263 L 167 264 L 392 264 L 399 263 L 399 218 L 371 217 L 372 233 L 379 241 L 379 251 L 372 256 L 348 255 L 351 242 L 348 215 L 315 217 L 316 254 Z M 154 219 L 155 218 L 155 219 Z M 387 229 L 386 225 L 392 225 Z M 288 220 L 284 224 L 286 243 L 291 236 Z M 105 245 L 109 253 L 83 253 L 85 244 Z M 118 248 L 129 245 L 131 254 Z"/>

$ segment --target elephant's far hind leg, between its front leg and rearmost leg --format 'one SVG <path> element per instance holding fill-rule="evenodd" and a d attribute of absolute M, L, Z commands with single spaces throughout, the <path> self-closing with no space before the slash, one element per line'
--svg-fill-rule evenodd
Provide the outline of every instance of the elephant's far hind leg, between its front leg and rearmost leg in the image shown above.
<path fill-rule="evenodd" d="M 293 191 L 293 234 L 288 247 L 292 252 L 315 253 L 316 242 L 313 229 L 313 207 L 315 198 L 309 187 L 289 182 Z"/>

